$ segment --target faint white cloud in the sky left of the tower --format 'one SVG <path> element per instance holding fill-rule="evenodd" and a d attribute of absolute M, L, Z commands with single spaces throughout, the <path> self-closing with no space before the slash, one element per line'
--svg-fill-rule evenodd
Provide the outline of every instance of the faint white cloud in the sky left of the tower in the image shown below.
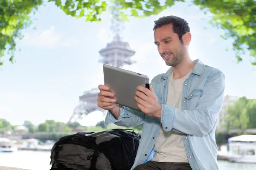
<path fill-rule="evenodd" d="M 34 34 L 25 34 L 22 41 L 26 43 L 26 45 L 48 49 L 71 47 L 78 43 L 73 37 L 66 37 L 56 32 L 54 26 L 46 30 L 38 30 Z"/>

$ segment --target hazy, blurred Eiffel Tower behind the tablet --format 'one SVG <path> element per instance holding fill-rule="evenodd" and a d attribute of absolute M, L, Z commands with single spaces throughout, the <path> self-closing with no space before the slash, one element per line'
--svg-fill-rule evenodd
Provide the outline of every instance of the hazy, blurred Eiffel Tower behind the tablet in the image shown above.
<path fill-rule="evenodd" d="M 123 30 L 123 21 L 118 20 L 118 13 L 113 10 L 111 20 L 111 31 L 113 32 L 113 40 L 107 46 L 99 51 L 99 61 L 103 64 L 122 67 L 123 65 L 132 65 L 136 63 L 131 60 L 136 51 L 130 48 L 128 42 L 122 41 L 121 31 Z M 79 122 L 88 114 L 94 111 L 102 111 L 105 116 L 106 112 L 97 105 L 99 89 L 93 88 L 89 91 L 84 91 L 82 96 L 79 96 L 79 104 L 75 107 L 72 116 L 68 123 Z"/>

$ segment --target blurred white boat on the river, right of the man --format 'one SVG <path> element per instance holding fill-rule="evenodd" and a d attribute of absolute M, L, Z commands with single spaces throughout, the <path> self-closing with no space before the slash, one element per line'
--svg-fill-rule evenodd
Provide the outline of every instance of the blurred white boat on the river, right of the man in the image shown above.
<path fill-rule="evenodd" d="M 228 139 L 229 161 L 256 163 L 256 135 L 241 135 Z"/>

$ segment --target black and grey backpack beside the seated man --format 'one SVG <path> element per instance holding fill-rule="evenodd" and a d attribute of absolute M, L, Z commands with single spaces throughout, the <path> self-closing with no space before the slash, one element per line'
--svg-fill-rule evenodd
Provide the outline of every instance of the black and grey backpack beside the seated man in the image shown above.
<path fill-rule="evenodd" d="M 126 129 L 64 136 L 52 147 L 50 170 L 130 170 L 140 137 Z"/>

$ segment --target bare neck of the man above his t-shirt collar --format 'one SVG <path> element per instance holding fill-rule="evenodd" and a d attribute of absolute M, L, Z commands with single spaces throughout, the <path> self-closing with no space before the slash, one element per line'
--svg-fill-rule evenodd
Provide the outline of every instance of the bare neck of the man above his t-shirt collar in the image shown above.
<path fill-rule="evenodd" d="M 180 79 L 186 76 L 189 73 L 189 71 L 192 70 L 194 65 L 195 63 L 189 56 L 184 56 L 183 60 L 176 67 L 172 67 L 173 78 Z"/>

